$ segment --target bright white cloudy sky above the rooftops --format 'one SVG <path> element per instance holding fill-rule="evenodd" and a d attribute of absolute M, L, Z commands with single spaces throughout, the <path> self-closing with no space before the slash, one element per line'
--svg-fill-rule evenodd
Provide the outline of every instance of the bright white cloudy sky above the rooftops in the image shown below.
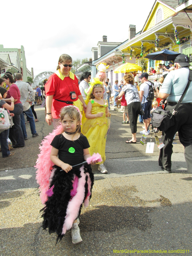
<path fill-rule="evenodd" d="M 2 3 L 3 2 L 3 3 Z M 2 1 L 4 13 L 0 44 L 25 48 L 27 68 L 34 75 L 55 71 L 59 56 L 72 59 L 92 57 L 102 36 L 108 42 L 124 42 L 129 24 L 139 32 L 153 1 Z"/>

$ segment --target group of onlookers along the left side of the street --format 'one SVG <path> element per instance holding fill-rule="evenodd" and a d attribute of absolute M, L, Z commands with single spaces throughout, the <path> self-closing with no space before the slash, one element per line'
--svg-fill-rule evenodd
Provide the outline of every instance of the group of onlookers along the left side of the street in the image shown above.
<path fill-rule="evenodd" d="M 0 78 L 0 108 L 6 109 L 10 119 L 10 128 L 6 130 L 3 127 L 4 119 L 0 121 L 2 124 L 0 129 L 0 146 L 3 157 L 13 156 L 14 152 L 10 152 L 11 149 L 25 146 L 25 140 L 28 140 L 28 135 L 24 116 L 27 117 L 26 119 L 30 125 L 32 137 L 35 138 L 38 136 L 35 123 L 39 121 L 34 110 L 34 105 L 38 105 L 41 102 L 41 94 L 44 97 L 45 104 L 45 89 L 42 87 L 41 91 L 38 86 L 33 89 L 28 82 L 26 83 L 22 80 L 22 74 L 17 73 L 13 77 L 9 71 L 5 72 L 4 76 Z M 44 84 L 46 82 L 47 79 L 44 80 Z M 12 106 L 12 101 L 14 104 L 13 108 L 11 107 L 10 109 L 8 105 Z"/>

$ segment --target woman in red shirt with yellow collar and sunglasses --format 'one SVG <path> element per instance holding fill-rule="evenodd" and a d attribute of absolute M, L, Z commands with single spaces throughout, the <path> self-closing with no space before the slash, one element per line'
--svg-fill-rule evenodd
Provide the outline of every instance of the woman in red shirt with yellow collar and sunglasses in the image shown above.
<path fill-rule="evenodd" d="M 75 105 L 80 111 L 86 110 L 87 105 L 79 90 L 76 76 L 70 72 L 72 58 L 62 54 L 58 61 L 57 72 L 52 74 L 45 84 L 46 91 L 46 122 L 56 128 L 59 124 L 60 110 L 68 105 Z"/>

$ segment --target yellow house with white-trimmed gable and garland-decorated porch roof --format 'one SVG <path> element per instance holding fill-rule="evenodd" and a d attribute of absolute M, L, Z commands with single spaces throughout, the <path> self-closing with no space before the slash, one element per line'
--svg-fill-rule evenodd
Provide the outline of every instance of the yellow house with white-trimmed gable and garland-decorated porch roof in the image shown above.
<path fill-rule="evenodd" d="M 125 54 L 131 53 L 136 64 L 143 66 L 146 72 L 150 67 L 156 69 L 159 63 L 164 63 L 146 59 L 148 53 L 164 49 L 184 53 L 183 50 L 191 47 L 192 43 L 192 13 L 188 9 L 176 12 L 177 6 L 177 0 L 156 0 L 140 33 L 119 45 L 118 49 Z M 185 52 L 192 62 L 190 51 Z"/>

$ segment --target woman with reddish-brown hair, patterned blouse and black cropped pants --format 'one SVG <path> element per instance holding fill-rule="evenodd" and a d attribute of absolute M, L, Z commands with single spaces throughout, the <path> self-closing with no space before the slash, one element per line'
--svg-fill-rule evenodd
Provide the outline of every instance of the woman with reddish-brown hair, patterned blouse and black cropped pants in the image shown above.
<path fill-rule="evenodd" d="M 134 77 L 132 76 L 132 74 L 125 75 L 123 79 L 124 87 L 122 88 L 119 95 L 116 97 L 116 100 L 120 99 L 125 94 L 129 122 L 132 132 L 132 138 L 128 139 L 126 143 L 136 143 L 137 119 L 141 109 L 140 94 L 136 85 L 134 85 Z"/>

